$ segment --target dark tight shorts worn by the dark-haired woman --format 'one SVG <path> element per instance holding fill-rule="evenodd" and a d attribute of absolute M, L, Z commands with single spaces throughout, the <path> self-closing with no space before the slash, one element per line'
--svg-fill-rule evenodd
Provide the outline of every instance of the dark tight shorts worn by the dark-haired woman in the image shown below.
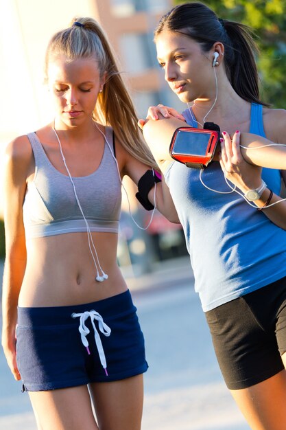
<path fill-rule="evenodd" d="M 286 278 L 206 312 L 229 389 L 247 388 L 284 369 Z"/>

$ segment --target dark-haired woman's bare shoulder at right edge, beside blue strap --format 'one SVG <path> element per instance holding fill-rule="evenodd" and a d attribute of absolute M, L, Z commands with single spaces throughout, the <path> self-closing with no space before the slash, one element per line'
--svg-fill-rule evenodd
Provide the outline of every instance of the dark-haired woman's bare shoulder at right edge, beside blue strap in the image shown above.
<path fill-rule="evenodd" d="M 268 139 L 281 142 L 286 137 L 286 109 L 263 108 L 263 126 Z"/>

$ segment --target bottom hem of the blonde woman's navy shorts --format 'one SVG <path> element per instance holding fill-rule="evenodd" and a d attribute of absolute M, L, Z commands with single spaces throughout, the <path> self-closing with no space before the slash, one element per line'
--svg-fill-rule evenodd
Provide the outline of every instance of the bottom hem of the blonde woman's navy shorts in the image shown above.
<path fill-rule="evenodd" d="M 29 384 L 23 382 L 23 392 L 40 392 L 40 391 L 53 391 L 53 389 L 64 389 L 64 388 L 71 388 L 71 387 L 79 387 L 80 385 L 88 385 L 91 383 L 106 383 L 106 382 L 114 382 L 114 381 L 121 381 L 122 379 L 131 378 L 132 376 L 136 376 L 139 374 L 143 374 L 147 372 L 148 369 L 147 362 L 144 365 L 141 365 L 140 367 L 136 367 L 136 369 L 127 370 L 126 372 L 121 372 L 118 374 L 111 374 L 108 376 L 97 376 L 97 378 L 88 379 L 75 379 L 73 381 L 61 381 L 61 382 L 49 382 L 45 384 Z"/>

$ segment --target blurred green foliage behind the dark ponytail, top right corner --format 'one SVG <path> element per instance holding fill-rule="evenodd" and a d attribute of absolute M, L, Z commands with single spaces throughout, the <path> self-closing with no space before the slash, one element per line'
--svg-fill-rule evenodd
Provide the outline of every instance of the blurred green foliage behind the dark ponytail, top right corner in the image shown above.
<path fill-rule="evenodd" d="M 174 4 L 187 3 L 174 0 Z M 257 35 L 260 56 L 261 98 L 274 107 L 286 108 L 286 0 L 202 1 L 219 18 L 249 25 Z"/>

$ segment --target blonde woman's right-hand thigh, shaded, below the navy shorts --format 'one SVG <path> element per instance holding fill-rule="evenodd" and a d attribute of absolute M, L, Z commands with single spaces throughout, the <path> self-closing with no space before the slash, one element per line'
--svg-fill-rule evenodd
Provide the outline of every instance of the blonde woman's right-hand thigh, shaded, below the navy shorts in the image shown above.
<path fill-rule="evenodd" d="M 140 430 L 143 374 L 110 383 L 88 385 L 100 430 Z"/>

